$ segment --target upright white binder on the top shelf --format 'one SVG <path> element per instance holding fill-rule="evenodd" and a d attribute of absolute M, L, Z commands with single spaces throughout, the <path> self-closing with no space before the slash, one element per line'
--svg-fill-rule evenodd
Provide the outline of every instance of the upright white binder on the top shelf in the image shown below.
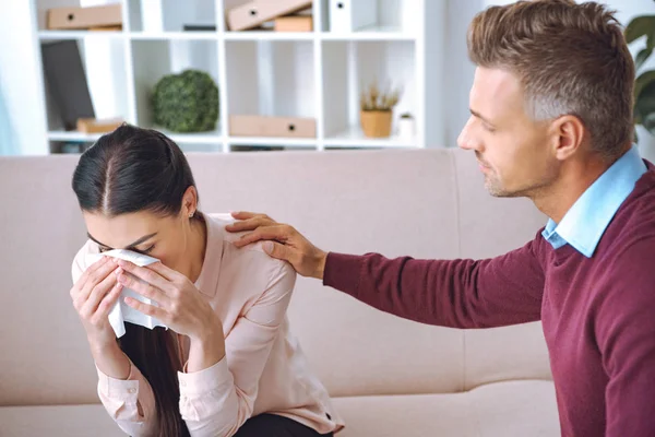
<path fill-rule="evenodd" d="M 378 23 L 378 0 L 330 0 L 330 32 L 350 33 Z"/>

